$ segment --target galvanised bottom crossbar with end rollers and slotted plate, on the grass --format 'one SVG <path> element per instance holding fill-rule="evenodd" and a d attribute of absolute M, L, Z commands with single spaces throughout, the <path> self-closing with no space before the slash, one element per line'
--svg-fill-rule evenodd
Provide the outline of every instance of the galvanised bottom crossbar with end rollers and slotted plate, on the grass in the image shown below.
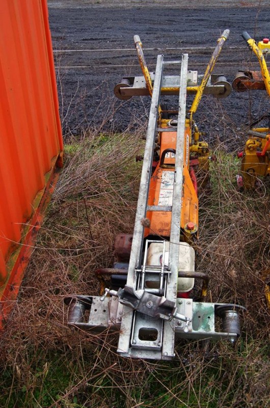
<path fill-rule="evenodd" d="M 90 307 L 89 315 L 86 313 L 88 306 L 84 308 L 85 301 Z M 69 305 L 68 324 L 70 326 L 94 333 L 123 329 L 122 321 L 126 309 L 116 296 L 106 296 L 103 301 L 99 296 L 68 297 L 65 302 Z M 78 304 L 83 306 L 80 308 L 80 312 L 83 311 L 83 313 L 76 314 L 76 318 L 74 304 L 76 307 Z M 245 308 L 234 304 L 194 302 L 193 299 L 183 298 L 177 299 L 175 308 L 176 314 L 186 318 L 186 322 L 177 319 L 175 326 L 171 326 L 171 329 L 174 327 L 176 338 L 229 340 L 232 343 L 240 334 L 239 312 L 245 311 Z M 131 316 L 131 309 L 128 307 L 127 310 Z M 132 313 L 136 318 L 133 319 L 131 327 L 129 350 L 126 353 L 122 350 L 121 354 L 136 358 L 171 360 L 173 356 L 167 354 L 166 344 L 164 344 L 164 323 L 170 325 L 172 321 L 165 322 L 163 319 L 149 316 L 138 310 Z"/>

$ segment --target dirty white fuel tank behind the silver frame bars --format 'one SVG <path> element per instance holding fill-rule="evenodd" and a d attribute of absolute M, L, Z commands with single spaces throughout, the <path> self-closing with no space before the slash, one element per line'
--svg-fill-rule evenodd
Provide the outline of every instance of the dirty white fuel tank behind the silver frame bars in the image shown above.
<path fill-rule="evenodd" d="M 168 266 L 170 243 L 165 243 L 165 265 Z M 155 243 L 149 245 L 147 254 L 147 265 L 159 266 L 162 263 L 163 243 Z M 195 270 L 195 251 L 192 246 L 186 242 L 179 242 L 179 263 L 180 271 Z M 193 277 L 179 277 L 177 292 L 189 292 L 194 287 Z"/>

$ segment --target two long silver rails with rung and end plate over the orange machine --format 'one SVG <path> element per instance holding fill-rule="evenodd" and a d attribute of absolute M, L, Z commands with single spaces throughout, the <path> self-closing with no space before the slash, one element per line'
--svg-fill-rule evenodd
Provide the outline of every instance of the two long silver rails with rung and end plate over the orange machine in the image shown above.
<path fill-rule="evenodd" d="M 166 298 L 176 302 L 177 297 L 177 278 L 178 278 L 178 258 L 179 258 L 179 241 L 180 241 L 180 220 L 182 207 L 182 183 L 183 183 L 183 161 L 184 161 L 184 140 L 185 140 L 185 116 L 186 116 L 186 84 L 187 84 L 187 62 L 188 55 L 182 55 L 181 73 L 180 73 L 180 90 L 179 90 L 179 109 L 177 124 L 177 141 L 175 154 L 175 171 L 173 185 L 173 203 L 170 206 L 147 206 L 148 193 L 151 179 L 152 160 L 154 154 L 155 137 L 157 132 L 157 118 L 159 109 L 159 98 L 161 87 L 163 86 L 163 55 L 158 55 L 151 108 L 146 136 L 144 160 L 142 167 L 142 176 L 138 197 L 136 219 L 134 223 L 133 239 L 128 267 L 127 286 L 138 288 L 138 274 L 146 266 L 146 258 L 142 268 L 142 251 L 144 242 L 143 219 L 147 211 L 172 211 L 171 235 L 169 247 L 169 268 L 166 278 Z M 170 208 L 169 208 L 170 207 Z M 147 247 L 146 247 L 147 251 Z M 146 254 L 145 254 L 146 257 Z M 164 260 L 163 260 L 164 267 Z M 161 269 L 164 268 L 161 267 Z M 145 271 L 144 271 L 145 272 Z M 163 274 L 160 272 L 160 280 Z M 143 275 L 142 275 L 143 276 Z M 141 277 L 142 282 L 143 277 Z M 148 319 L 148 320 L 147 320 Z M 158 333 L 155 342 L 138 341 L 138 333 L 141 325 L 150 325 L 150 319 L 141 316 L 140 313 L 130 310 L 124 306 L 121 331 L 118 343 L 118 353 L 123 356 L 134 356 L 142 358 L 171 359 L 174 356 L 174 338 L 175 322 L 158 319 L 155 329 Z M 134 338 L 136 337 L 136 339 Z M 140 335 L 139 335 L 140 337 Z"/>

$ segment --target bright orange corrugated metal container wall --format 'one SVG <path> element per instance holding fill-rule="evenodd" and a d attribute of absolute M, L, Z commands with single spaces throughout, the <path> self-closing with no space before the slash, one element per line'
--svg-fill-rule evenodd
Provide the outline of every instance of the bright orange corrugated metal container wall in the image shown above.
<path fill-rule="evenodd" d="M 52 175 L 62 165 L 45 0 L 1 2 L 0 104 L 0 299 L 5 300 L 16 285 L 21 244 L 30 245 L 34 216 L 42 200 L 44 207 Z"/>

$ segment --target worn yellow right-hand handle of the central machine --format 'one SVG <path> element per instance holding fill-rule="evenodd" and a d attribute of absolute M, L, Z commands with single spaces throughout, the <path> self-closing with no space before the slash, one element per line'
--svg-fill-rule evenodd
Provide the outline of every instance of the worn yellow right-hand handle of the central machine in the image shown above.
<path fill-rule="evenodd" d="M 213 70 L 213 67 L 214 67 L 215 63 L 217 62 L 217 59 L 219 58 L 222 46 L 225 43 L 225 41 L 227 40 L 227 38 L 229 37 L 229 34 L 230 34 L 230 30 L 224 30 L 221 37 L 218 39 L 218 45 L 215 47 L 214 52 L 213 52 L 213 54 L 212 54 L 212 56 L 210 58 L 210 61 L 209 61 L 208 65 L 207 65 L 207 68 L 206 68 L 206 70 L 204 72 L 201 85 L 198 87 L 196 96 L 195 96 L 195 98 L 193 100 L 193 104 L 192 104 L 192 107 L 190 109 L 191 121 L 192 121 L 193 113 L 195 113 L 197 111 L 198 105 L 199 105 L 200 100 L 201 100 L 202 95 L 203 95 L 204 88 L 206 87 L 206 84 L 207 84 L 207 82 L 209 80 L 209 77 L 210 77 L 210 74 L 211 74 L 211 72 Z"/>

